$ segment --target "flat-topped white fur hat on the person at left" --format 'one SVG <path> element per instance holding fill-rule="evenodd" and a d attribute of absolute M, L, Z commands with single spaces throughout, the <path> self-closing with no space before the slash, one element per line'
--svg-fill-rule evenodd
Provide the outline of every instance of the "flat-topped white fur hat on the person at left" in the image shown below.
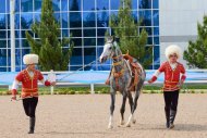
<path fill-rule="evenodd" d="M 37 54 L 25 54 L 23 57 L 24 64 L 37 64 L 39 57 Z"/>

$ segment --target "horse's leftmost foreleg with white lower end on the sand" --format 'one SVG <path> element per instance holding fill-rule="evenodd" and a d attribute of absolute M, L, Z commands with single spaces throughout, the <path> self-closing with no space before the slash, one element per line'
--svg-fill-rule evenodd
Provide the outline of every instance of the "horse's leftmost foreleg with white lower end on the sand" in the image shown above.
<path fill-rule="evenodd" d="M 109 117 L 109 125 L 108 125 L 109 129 L 113 128 L 112 120 L 113 120 L 113 111 L 115 108 L 114 104 L 115 104 L 115 92 L 111 92 L 110 117 Z"/>

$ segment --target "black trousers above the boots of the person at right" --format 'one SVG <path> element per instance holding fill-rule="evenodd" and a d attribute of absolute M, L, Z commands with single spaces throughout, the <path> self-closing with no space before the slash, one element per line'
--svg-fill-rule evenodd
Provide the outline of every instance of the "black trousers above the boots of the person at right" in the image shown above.
<path fill-rule="evenodd" d="M 176 111 L 178 102 L 179 102 L 179 90 L 175 91 L 163 91 L 165 99 L 165 109 Z"/>

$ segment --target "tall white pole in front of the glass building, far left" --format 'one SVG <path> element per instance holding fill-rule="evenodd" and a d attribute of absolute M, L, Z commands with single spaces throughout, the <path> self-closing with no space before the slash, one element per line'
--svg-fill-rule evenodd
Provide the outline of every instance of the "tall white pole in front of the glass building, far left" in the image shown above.
<path fill-rule="evenodd" d="M 15 72 L 14 7 L 15 7 L 15 0 L 10 0 L 11 72 Z"/>

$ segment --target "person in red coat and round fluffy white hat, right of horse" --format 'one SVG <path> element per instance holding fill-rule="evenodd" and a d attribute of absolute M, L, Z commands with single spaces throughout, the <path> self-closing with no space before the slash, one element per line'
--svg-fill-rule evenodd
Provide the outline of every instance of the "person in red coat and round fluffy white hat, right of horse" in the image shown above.
<path fill-rule="evenodd" d="M 165 73 L 163 83 L 163 98 L 165 98 L 165 111 L 166 111 L 166 127 L 173 128 L 173 122 L 176 115 L 176 106 L 179 101 L 179 90 L 184 83 L 185 68 L 183 64 L 178 62 L 181 55 L 181 49 L 178 46 L 169 46 L 166 49 L 166 58 L 168 61 L 161 64 L 161 66 L 155 72 L 151 79 L 148 80 L 149 84 L 154 83 L 160 73 Z M 180 78 L 180 74 L 182 74 Z"/>

